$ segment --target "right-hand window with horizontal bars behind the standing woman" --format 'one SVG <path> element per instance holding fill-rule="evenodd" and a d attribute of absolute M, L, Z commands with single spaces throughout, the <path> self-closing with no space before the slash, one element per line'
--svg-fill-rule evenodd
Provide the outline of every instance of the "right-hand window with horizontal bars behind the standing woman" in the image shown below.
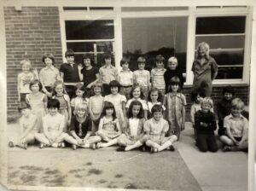
<path fill-rule="evenodd" d="M 245 16 L 199 17 L 196 19 L 195 48 L 210 45 L 218 63 L 217 79 L 241 79 L 244 68 Z"/>

